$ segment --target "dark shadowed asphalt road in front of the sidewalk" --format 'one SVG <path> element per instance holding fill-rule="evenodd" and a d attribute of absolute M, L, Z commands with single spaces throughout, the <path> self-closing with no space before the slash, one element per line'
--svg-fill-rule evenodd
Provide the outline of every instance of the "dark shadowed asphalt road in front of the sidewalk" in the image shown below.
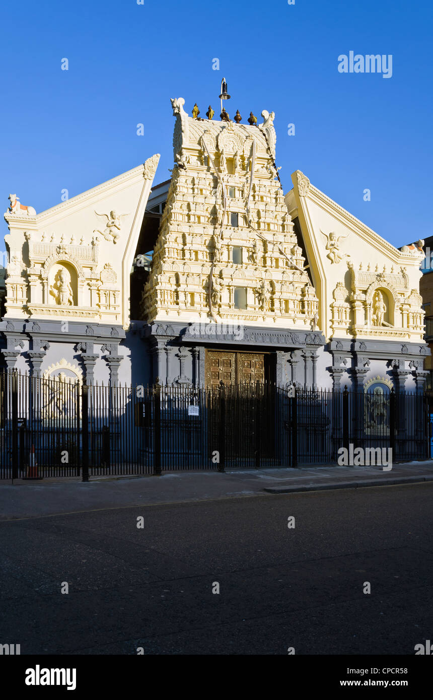
<path fill-rule="evenodd" d="M 413 654 L 433 639 L 432 500 L 426 483 L 3 521 L 0 643 Z"/>

